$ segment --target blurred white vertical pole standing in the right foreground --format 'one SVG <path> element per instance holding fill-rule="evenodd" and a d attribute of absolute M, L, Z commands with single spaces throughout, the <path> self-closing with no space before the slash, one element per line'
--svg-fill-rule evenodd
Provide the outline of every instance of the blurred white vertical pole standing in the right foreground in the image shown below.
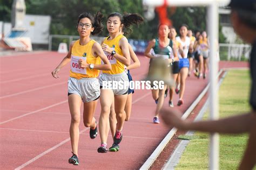
<path fill-rule="evenodd" d="M 216 52 L 216 42 L 218 40 L 219 32 L 219 13 L 218 5 L 216 2 L 212 2 L 208 6 L 207 10 L 207 32 L 210 39 L 210 119 L 219 118 L 219 104 L 218 104 L 218 89 L 217 89 L 217 72 L 218 72 L 218 62 L 217 62 L 217 52 Z M 209 168 L 219 169 L 219 134 L 212 133 L 210 137 L 210 152 L 209 152 Z"/>

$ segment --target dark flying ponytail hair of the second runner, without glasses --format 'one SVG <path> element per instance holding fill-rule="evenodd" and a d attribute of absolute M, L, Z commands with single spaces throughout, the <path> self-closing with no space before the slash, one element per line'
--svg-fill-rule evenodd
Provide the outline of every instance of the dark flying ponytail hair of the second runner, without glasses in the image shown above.
<path fill-rule="evenodd" d="M 117 16 L 120 18 L 121 24 L 123 24 L 123 32 L 124 34 L 131 33 L 130 26 L 133 24 L 139 25 L 144 21 L 143 17 L 138 15 L 138 13 L 124 13 L 124 15 L 121 15 L 118 12 L 110 13 L 109 16 L 107 16 L 107 19 L 110 17 Z M 129 30 L 129 31 L 128 31 Z"/>

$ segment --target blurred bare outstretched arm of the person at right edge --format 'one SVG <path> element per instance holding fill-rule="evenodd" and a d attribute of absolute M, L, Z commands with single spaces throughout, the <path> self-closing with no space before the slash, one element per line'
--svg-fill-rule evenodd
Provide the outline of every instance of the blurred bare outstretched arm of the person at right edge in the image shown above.
<path fill-rule="evenodd" d="M 191 122 L 181 119 L 181 112 L 176 109 L 160 111 L 165 124 L 180 130 L 197 130 L 202 132 L 217 133 L 244 133 L 250 132 L 251 126 L 256 122 L 256 114 L 247 114 L 227 117 L 214 121 Z"/>

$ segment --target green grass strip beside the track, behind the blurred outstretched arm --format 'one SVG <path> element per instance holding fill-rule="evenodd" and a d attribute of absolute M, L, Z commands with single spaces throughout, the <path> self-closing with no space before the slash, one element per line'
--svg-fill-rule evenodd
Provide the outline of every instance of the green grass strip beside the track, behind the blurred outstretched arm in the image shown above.
<path fill-rule="evenodd" d="M 248 70 L 232 70 L 227 73 L 219 90 L 220 117 L 250 111 L 248 104 L 250 84 Z M 206 112 L 204 119 L 207 119 L 208 114 L 209 111 Z M 196 132 L 176 169 L 208 169 L 209 137 L 208 133 Z M 247 134 L 220 135 L 220 169 L 237 169 L 247 138 Z"/>

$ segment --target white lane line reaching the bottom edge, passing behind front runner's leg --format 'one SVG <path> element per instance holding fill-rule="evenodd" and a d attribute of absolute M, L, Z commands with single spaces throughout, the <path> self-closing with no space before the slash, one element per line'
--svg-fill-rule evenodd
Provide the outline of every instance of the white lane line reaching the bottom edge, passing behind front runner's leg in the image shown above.
<path fill-rule="evenodd" d="M 80 131 L 80 134 L 83 133 L 83 132 L 85 132 L 85 131 L 88 130 L 88 129 L 90 129 L 90 128 L 85 128 L 85 129 L 83 129 L 82 131 Z M 43 157 L 43 155 L 45 155 L 45 154 L 51 152 L 52 150 L 55 150 L 55 149 L 58 148 L 59 146 L 64 145 L 64 144 L 67 143 L 68 141 L 70 141 L 70 138 L 63 140 L 63 141 L 60 142 L 59 144 L 57 144 L 57 145 L 55 145 L 55 146 L 49 148 L 48 150 L 44 151 L 43 153 L 37 155 L 35 158 L 30 159 L 29 161 L 25 162 L 25 163 L 22 164 L 21 166 L 15 168 L 15 170 L 24 168 L 25 166 L 31 164 L 33 161 L 36 161 L 37 159 Z"/>

